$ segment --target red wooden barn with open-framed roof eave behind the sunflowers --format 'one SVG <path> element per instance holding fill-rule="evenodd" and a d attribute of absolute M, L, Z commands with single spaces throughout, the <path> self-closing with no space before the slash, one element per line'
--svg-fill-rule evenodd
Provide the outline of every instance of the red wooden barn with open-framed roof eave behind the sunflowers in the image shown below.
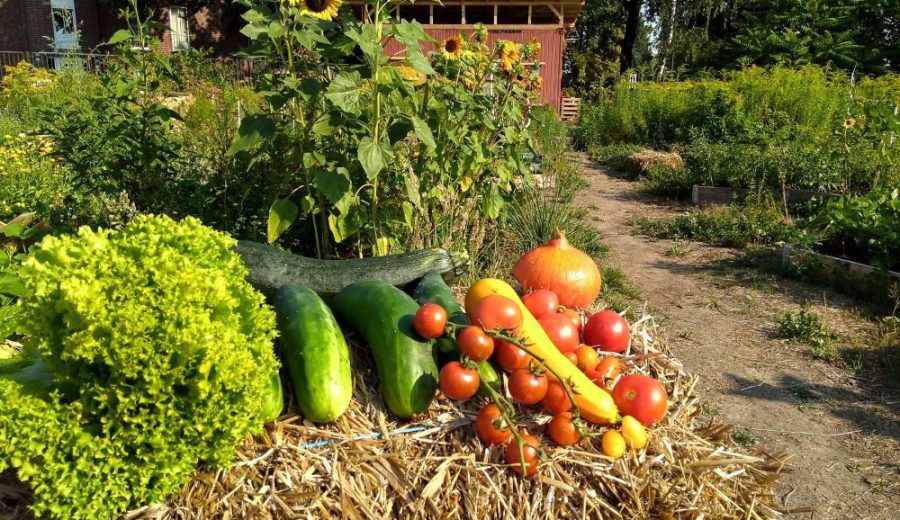
<path fill-rule="evenodd" d="M 362 20 L 367 19 L 362 5 L 353 1 L 351 5 Z M 566 33 L 575 25 L 583 5 L 583 0 L 446 0 L 441 4 L 425 1 L 398 5 L 395 15 L 418 21 L 438 42 L 460 31 L 471 34 L 476 23 L 487 27 L 491 43 L 497 39 L 528 43 L 537 38 L 541 42 L 539 60 L 544 78 L 540 101 L 559 110 Z M 388 44 L 388 53 L 400 50 L 395 45 L 396 42 Z M 429 45 L 424 50 L 427 54 L 434 48 Z"/>

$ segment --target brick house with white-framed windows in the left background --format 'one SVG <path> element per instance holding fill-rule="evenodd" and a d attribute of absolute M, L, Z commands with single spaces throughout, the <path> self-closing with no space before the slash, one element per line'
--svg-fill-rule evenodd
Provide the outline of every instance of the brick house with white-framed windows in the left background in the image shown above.
<path fill-rule="evenodd" d="M 246 43 L 240 11 L 228 0 L 157 2 L 154 14 L 167 26 L 160 35 L 167 52 L 202 47 L 227 55 Z M 0 52 L 90 52 L 124 26 L 102 0 L 0 0 Z"/>

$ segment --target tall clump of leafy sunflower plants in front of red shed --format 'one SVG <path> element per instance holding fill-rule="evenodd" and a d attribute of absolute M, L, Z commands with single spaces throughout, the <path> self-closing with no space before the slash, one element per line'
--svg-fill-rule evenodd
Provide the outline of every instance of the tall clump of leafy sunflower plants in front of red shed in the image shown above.
<path fill-rule="evenodd" d="M 491 48 L 476 28 L 429 60 L 424 29 L 393 16 L 391 1 L 366 2 L 365 24 L 346 10 L 244 4 L 245 54 L 284 68 L 260 78 L 267 107 L 243 118 L 230 148 L 291 149 L 292 186 L 270 208 L 270 242 L 299 222 L 317 256 L 383 255 L 465 243 L 480 219 L 499 217 L 527 175 L 524 106 L 539 76 L 523 58 L 537 44 Z M 390 42 L 403 50 L 388 56 Z"/>

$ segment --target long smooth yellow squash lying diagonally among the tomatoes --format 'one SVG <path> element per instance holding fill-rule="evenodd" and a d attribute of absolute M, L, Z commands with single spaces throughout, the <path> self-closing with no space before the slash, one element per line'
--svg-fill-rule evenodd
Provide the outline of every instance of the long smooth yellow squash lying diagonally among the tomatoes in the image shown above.
<path fill-rule="evenodd" d="M 519 337 L 524 345 L 544 360 L 546 365 L 556 371 L 563 380 L 571 383 L 575 404 L 585 420 L 596 424 L 614 424 L 619 422 L 619 410 L 612 397 L 593 381 L 588 379 L 578 367 L 572 364 L 562 352 L 557 350 L 553 342 L 541 328 L 540 323 L 528 312 L 516 291 L 503 280 L 485 278 L 479 280 L 466 293 L 466 308 L 474 309 L 484 297 L 491 294 L 506 296 L 516 302 L 522 310 L 523 323 Z"/>

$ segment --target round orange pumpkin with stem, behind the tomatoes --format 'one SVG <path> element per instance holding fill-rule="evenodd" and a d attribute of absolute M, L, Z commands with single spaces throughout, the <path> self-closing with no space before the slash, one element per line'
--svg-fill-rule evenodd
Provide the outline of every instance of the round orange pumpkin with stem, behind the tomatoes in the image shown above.
<path fill-rule="evenodd" d="M 513 276 L 525 292 L 547 289 L 566 307 L 586 308 L 600 294 L 600 269 L 584 251 L 556 230 L 553 238 L 522 255 Z"/>

